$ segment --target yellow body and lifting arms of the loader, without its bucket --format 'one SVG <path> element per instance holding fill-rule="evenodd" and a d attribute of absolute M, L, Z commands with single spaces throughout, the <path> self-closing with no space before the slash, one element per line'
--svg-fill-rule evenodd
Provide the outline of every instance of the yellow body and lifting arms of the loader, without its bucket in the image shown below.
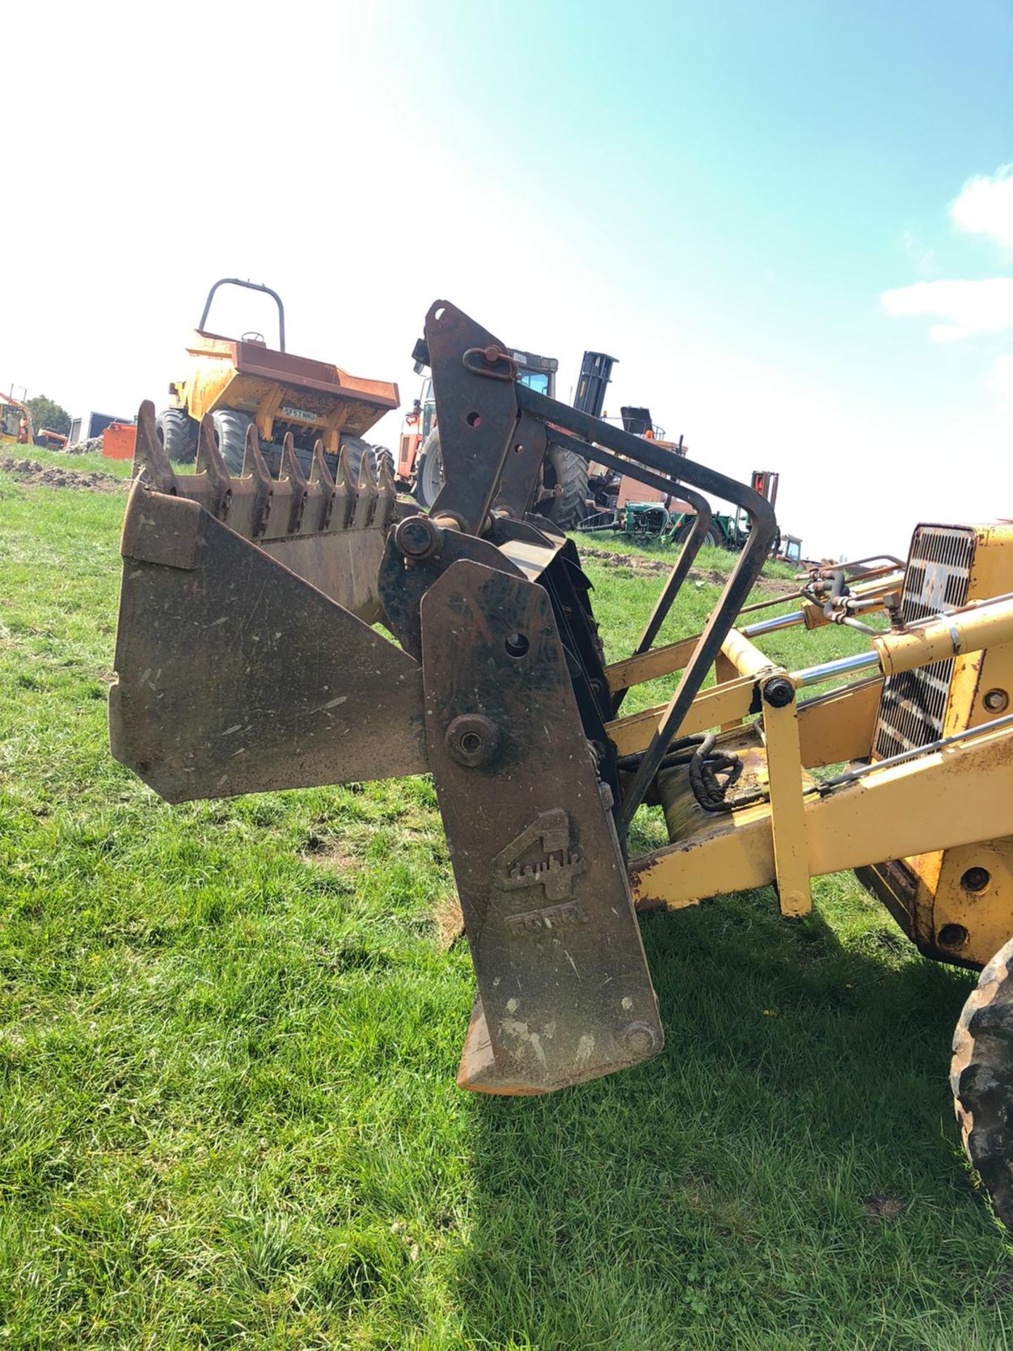
<path fill-rule="evenodd" d="M 870 601 L 898 581 L 868 585 Z M 929 957 L 983 966 L 1013 935 L 1010 728 L 931 750 L 1009 711 L 1013 523 L 918 527 L 901 613 L 904 628 L 873 639 L 874 676 L 786 708 L 766 704 L 763 689 L 781 678 L 801 693 L 806 673 L 775 666 L 731 631 L 717 682 L 697 696 L 682 732 L 721 728 L 719 747 L 744 766 L 736 809 L 704 812 L 685 774 L 660 775 L 670 843 L 631 861 L 639 908 L 678 909 L 777 882 L 782 911 L 800 915 L 812 877 L 855 869 Z M 806 604 L 798 623 L 827 620 Z M 623 689 L 679 670 L 694 644 L 617 662 L 609 682 Z M 662 713 L 612 723 L 620 754 L 643 751 Z M 813 773 L 841 763 L 856 777 L 828 788 Z"/>

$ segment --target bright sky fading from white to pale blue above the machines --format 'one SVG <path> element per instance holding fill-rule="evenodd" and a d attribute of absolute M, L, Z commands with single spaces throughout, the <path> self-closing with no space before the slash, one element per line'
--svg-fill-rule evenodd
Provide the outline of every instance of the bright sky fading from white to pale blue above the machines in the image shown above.
<path fill-rule="evenodd" d="M 952 208 L 1013 161 L 1009 4 L 174 7 L 200 61 L 158 7 L 24 9 L 28 50 L 45 34 L 57 66 L 107 76 L 7 104 L 24 162 L 90 205 L 69 231 L 0 226 L 22 316 L 0 386 L 159 400 L 207 286 L 239 274 L 282 290 L 294 350 L 409 403 L 447 296 L 558 355 L 563 392 L 585 346 L 617 355 L 609 403 L 648 403 L 716 467 L 779 469 L 813 551 L 1013 515 L 1013 312 L 991 289 L 1013 236 L 1001 192 L 977 232 Z M 945 297 L 906 288 L 954 280 L 986 284 L 991 319 L 939 340 Z"/>

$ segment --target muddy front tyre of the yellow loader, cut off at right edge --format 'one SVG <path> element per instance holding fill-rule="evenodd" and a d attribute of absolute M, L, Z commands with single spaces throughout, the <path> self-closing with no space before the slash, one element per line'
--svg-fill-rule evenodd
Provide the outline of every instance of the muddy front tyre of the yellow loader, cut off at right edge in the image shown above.
<path fill-rule="evenodd" d="M 967 1158 L 1013 1229 L 1013 939 L 982 971 L 954 1034 L 950 1085 Z"/>

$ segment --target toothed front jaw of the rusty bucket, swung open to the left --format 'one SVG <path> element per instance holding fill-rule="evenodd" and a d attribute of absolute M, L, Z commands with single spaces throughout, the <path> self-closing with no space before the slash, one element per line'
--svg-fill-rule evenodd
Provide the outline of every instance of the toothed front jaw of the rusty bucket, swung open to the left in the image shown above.
<path fill-rule="evenodd" d="M 394 493 L 363 470 L 176 476 L 142 408 L 123 526 L 112 753 L 169 801 L 425 770 L 421 670 L 375 634 Z M 259 461 L 259 463 L 258 463 Z M 362 617 L 358 617 L 362 616 Z"/>

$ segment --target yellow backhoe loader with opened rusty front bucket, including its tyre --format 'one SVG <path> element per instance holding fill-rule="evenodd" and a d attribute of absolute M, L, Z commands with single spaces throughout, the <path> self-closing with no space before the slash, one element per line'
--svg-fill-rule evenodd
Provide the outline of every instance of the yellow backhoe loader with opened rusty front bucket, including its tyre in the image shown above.
<path fill-rule="evenodd" d="M 415 357 L 444 462 L 428 512 L 389 477 L 332 476 L 323 444 L 307 477 L 286 442 L 274 481 L 254 422 L 242 474 L 205 417 L 197 471 L 177 477 L 142 408 L 113 754 L 174 802 L 431 773 L 478 986 L 458 1082 L 485 1093 L 658 1052 L 639 909 L 773 882 L 800 916 L 812 877 L 856 869 L 923 952 L 985 966 L 952 1082 L 1013 1223 L 1013 523 L 920 526 L 906 563 L 814 569 L 793 613 L 740 615 L 777 532 L 752 488 L 525 386 L 448 301 Z M 696 511 L 611 665 L 575 544 L 529 511 L 548 444 Z M 709 497 L 750 516 L 746 547 L 704 632 L 655 647 Z M 867 651 L 786 670 L 756 646 L 829 623 Z M 674 671 L 665 705 L 623 716 L 628 689 Z M 629 857 L 650 802 L 669 843 Z"/>

